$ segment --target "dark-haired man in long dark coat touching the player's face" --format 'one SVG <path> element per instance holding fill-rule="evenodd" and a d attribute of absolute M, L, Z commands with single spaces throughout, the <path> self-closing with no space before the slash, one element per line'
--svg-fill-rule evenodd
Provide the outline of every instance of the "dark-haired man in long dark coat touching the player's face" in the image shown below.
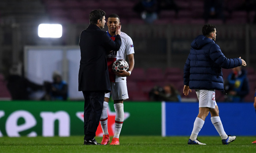
<path fill-rule="evenodd" d="M 90 12 L 90 25 L 80 35 L 81 60 L 78 90 L 84 96 L 84 145 L 100 145 L 95 133 L 101 117 L 105 93 L 109 93 L 110 82 L 106 55 L 118 51 L 121 46 L 121 26 L 117 27 L 113 41 L 102 31 L 106 13 L 100 9 Z"/>

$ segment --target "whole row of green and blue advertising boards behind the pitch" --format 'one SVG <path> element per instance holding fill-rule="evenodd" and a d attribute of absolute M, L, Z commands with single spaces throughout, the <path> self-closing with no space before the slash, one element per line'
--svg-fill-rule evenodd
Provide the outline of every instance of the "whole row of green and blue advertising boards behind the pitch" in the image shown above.
<path fill-rule="evenodd" d="M 83 101 L 0 101 L 0 137 L 83 135 Z M 218 103 L 227 134 L 256 136 L 253 103 Z M 189 136 L 198 103 L 130 102 L 124 105 L 122 135 Z M 114 134 L 113 102 L 108 107 L 109 134 Z M 100 125 L 97 136 L 102 136 Z M 218 136 L 206 118 L 201 136 Z"/>

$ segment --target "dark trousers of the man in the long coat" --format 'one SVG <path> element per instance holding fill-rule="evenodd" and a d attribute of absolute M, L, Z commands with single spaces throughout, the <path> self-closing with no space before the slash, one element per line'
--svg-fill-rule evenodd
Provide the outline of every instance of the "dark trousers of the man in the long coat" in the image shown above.
<path fill-rule="evenodd" d="M 92 140 L 101 118 L 105 91 L 83 91 L 84 96 L 84 140 Z"/>

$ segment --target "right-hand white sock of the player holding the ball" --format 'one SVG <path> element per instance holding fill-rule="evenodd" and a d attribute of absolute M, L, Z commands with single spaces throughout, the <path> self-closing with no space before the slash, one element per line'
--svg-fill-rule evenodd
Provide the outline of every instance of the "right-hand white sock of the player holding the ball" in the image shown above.
<path fill-rule="evenodd" d="M 114 109 L 116 111 L 115 118 L 115 133 L 113 138 L 119 138 L 123 122 L 124 122 L 124 104 L 123 103 L 115 103 Z"/>

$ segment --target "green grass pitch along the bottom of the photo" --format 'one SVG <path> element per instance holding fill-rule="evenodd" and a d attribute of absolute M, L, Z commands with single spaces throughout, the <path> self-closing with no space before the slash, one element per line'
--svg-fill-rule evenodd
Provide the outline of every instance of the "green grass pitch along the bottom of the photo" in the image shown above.
<path fill-rule="evenodd" d="M 199 137 L 207 145 L 188 145 L 189 137 L 121 136 L 119 146 L 83 145 L 83 136 L 71 137 L 0 137 L 1 153 L 84 153 L 84 152 L 188 152 L 188 153 L 255 153 L 256 137 L 238 136 L 229 145 L 220 137 Z M 102 137 L 96 137 L 101 142 Z M 111 138 L 110 138 L 111 141 Z"/>

